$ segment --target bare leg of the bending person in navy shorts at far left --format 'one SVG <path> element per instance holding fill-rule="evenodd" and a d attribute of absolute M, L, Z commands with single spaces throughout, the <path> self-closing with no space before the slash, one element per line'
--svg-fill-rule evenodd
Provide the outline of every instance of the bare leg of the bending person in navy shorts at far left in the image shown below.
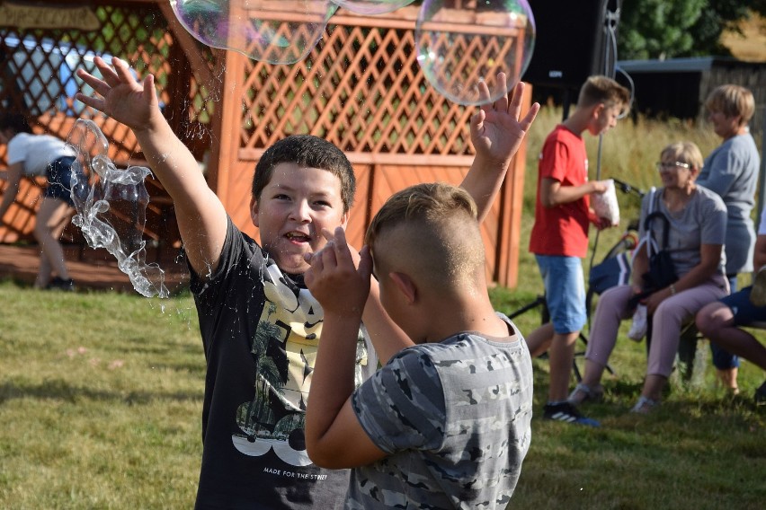
<path fill-rule="evenodd" d="M 65 280 L 69 279 L 64 249 L 58 238 L 66 226 L 64 220 L 71 211 L 63 200 L 48 197 L 42 199 L 34 226 L 34 236 L 40 244 L 40 270 L 35 281 L 37 287 L 47 286 L 52 272 Z"/>

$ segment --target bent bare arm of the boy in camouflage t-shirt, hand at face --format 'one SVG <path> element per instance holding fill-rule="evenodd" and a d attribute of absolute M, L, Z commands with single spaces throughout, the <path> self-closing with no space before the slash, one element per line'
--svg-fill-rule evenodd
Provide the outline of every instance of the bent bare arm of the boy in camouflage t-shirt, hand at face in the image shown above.
<path fill-rule="evenodd" d="M 310 258 L 306 285 L 325 312 L 322 339 L 311 375 L 306 409 L 306 449 L 317 466 L 341 469 L 386 456 L 364 431 L 352 409 L 356 343 L 370 290 L 372 259 L 363 248 L 359 268 L 342 228 Z"/>

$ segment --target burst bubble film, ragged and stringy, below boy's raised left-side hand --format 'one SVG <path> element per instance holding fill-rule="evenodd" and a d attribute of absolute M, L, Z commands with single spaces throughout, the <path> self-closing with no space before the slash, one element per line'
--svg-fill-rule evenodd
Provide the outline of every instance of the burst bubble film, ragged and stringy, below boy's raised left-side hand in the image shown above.
<path fill-rule="evenodd" d="M 67 136 L 75 151 L 72 199 L 77 214 L 72 223 L 91 248 L 105 248 L 128 275 L 139 294 L 168 297 L 165 271 L 146 263 L 143 239 L 149 194 L 144 185 L 152 172 L 143 166 L 122 170 L 109 159 L 109 144 L 92 120 L 77 119 Z"/>

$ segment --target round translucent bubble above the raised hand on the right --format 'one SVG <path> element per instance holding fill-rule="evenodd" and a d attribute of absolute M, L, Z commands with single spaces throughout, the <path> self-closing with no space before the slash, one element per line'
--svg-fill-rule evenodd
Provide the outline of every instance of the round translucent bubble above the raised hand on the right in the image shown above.
<path fill-rule="evenodd" d="M 455 9 L 451 0 L 423 0 L 415 48 L 423 74 L 450 101 L 477 105 L 512 90 L 530 64 L 535 21 L 527 0 L 477 0 Z M 496 86 L 497 74 L 507 90 Z M 489 87 L 491 96 L 480 92 Z"/>

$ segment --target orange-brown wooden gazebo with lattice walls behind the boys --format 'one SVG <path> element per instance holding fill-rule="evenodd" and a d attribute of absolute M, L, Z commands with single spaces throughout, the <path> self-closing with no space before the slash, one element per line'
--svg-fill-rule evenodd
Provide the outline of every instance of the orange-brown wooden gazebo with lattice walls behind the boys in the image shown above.
<path fill-rule="evenodd" d="M 250 183 L 266 147 L 294 133 L 341 147 L 357 173 L 348 233 L 360 245 L 371 215 L 391 193 L 421 181 L 457 184 L 473 159 L 468 119 L 474 108 L 450 102 L 426 81 L 414 51 L 416 14 L 412 5 L 378 16 L 339 10 L 308 57 L 272 65 L 202 45 L 167 0 L 94 0 L 78 7 L 67 0 L 4 0 L 0 108 L 22 110 L 37 119 L 40 132 L 62 138 L 75 119 L 94 119 L 110 140 L 112 160 L 140 164 L 140 147 L 127 128 L 71 99 L 81 85 L 77 66 L 92 70 L 94 55 L 123 58 L 139 76 L 156 76 L 165 116 L 247 233 L 257 236 Z M 0 146 L 0 170 L 4 150 Z M 483 224 L 487 275 L 502 286 L 517 282 L 524 161 L 522 148 Z M 145 235 L 177 250 L 172 204 L 156 180 L 147 188 Z M 39 196 L 40 182 L 22 185 L 4 216 L 0 242 L 31 240 Z M 73 226 L 66 235 L 83 242 Z"/>

